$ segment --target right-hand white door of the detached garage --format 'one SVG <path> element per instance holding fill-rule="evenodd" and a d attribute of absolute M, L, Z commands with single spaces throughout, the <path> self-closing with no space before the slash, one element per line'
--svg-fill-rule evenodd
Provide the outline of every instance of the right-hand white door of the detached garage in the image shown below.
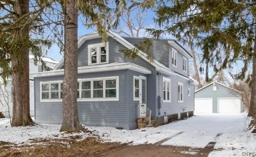
<path fill-rule="evenodd" d="M 219 113 L 241 113 L 241 100 L 238 98 L 218 98 Z"/>

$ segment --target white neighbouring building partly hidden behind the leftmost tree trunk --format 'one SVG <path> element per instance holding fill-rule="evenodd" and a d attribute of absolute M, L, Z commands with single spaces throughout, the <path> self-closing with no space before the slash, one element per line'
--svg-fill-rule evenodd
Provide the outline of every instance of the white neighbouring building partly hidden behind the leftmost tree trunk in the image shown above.
<path fill-rule="evenodd" d="M 53 69 L 59 61 L 56 61 L 49 57 L 43 57 L 43 61 L 46 62 L 46 65 Z M 37 65 L 34 64 L 34 56 L 29 55 L 29 74 L 37 73 L 42 71 L 41 63 L 38 62 Z M 0 90 L 0 113 L 2 113 L 5 117 L 8 117 L 8 105 L 6 102 L 9 102 L 9 109 L 10 109 L 10 116 L 12 117 L 12 111 L 13 111 L 13 104 L 12 104 L 12 83 L 11 80 L 8 80 L 7 85 L 4 87 L 2 84 L 2 79 L 0 78 L 0 86 L 3 90 L 5 97 L 3 96 L 2 90 Z M 29 78 L 29 90 L 30 90 L 30 115 L 34 116 L 34 80 L 32 77 Z M 8 99 L 7 99 L 8 96 Z M 7 101 L 5 101 L 7 100 Z"/>

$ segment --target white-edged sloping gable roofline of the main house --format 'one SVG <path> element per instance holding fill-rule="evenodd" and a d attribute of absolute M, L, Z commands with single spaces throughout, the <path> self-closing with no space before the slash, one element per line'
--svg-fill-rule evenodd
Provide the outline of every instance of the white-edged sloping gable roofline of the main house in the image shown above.
<path fill-rule="evenodd" d="M 135 46 L 133 46 L 133 44 L 129 43 L 127 40 L 123 39 L 120 35 L 117 35 L 112 31 L 107 31 L 107 35 L 112 37 L 113 39 L 117 40 L 120 44 L 123 44 L 123 46 L 125 46 L 128 49 L 136 48 Z M 86 40 L 96 39 L 96 38 L 100 38 L 100 37 L 101 36 L 97 32 L 93 32 L 88 35 L 83 35 L 78 40 L 78 48 L 80 48 Z M 183 77 L 184 79 L 190 80 L 188 77 L 185 77 L 181 74 L 175 73 L 173 70 L 170 70 L 165 65 L 161 64 L 159 61 L 156 61 L 155 59 L 153 60 L 153 62 L 149 61 L 147 59 L 146 53 L 142 52 L 141 50 L 138 50 L 138 56 L 141 57 L 142 59 L 144 59 L 145 61 L 147 61 L 148 63 L 150 63 L 151 65 L 153 65 L 155 67 L 156 71 L 159 71 L 164 74 L 169 74 L 169 75 L 178 75 L 180 77 Z M 60 69 L 63 65 L 64 65 L 64 57 L 62 58 L 61 61 L 59 61 L 59 64 L 57 64 L 53 70 Z"/>

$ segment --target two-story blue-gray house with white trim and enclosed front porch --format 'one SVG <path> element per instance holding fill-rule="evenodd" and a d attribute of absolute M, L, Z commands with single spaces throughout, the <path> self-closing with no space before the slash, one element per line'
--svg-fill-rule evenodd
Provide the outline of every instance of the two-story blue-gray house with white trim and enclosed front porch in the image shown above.
<path fill-rule="evenodd" d="M 175 40 L 152 40 L 154 61 L 139 51 L 135 60 L 120 49 L 133 49 L 143 38 L 121 37 L 108 31 L 108 42 L 92 33 L 78 41 L 78 116 L 87 126 L 136 129 L 137 119 L 164 122 L 192 115 L 194 85 L 188 74 L 191 54 Z M 64 59 L 52 71 L 32 74 L 35 121 L 60 124 Z"/>

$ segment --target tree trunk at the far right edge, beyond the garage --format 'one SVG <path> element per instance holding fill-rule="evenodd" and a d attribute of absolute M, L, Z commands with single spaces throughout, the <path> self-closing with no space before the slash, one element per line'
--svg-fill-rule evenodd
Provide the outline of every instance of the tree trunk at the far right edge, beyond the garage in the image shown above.
<path fill-rule="evenodd" d="M 252 57 L 252 74 L 251 74 L 251 102 L 248 112 L 248 116 L 253 119 L 251 121 L 251 126 L 256 126 L 256 29 L 254 36 L 254 50 Z M 254 130 L 256 132 L 256 129 Z"/>

